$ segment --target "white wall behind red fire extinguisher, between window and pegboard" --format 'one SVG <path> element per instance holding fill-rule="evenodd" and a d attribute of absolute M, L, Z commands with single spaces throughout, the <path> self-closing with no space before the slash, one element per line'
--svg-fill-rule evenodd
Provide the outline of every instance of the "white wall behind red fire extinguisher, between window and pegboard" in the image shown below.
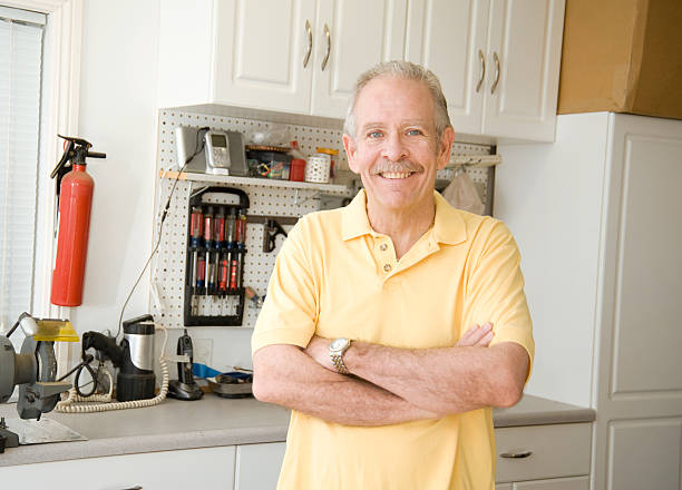
<path fill-rule="evenodd" d="M 116 330 L 152 251 L 156 154 L 158 0 L 84 2 L 79 136 L 104 151 L 95 179 L 79 332 Z M 147 313 L 148 275 L 124 320 Z"/>

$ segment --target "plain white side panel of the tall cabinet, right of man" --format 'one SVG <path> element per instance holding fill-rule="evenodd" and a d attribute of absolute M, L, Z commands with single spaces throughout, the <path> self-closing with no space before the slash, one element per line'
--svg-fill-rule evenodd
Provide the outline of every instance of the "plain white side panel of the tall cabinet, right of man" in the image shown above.
<path fill-rule="evenodd" d="M 527 393 L 591 405 L 607 114 L 559 116 L 553 145 L 500 145 L 495 216 L 516 237 L 536 342 Z"/>

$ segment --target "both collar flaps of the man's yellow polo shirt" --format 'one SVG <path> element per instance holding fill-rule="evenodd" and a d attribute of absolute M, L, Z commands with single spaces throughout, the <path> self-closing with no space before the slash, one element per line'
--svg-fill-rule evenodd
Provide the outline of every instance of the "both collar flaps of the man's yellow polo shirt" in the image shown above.
<path fill-rule="evenodd" d="M 455 209 L 438 192 L 433 190 L 436 218 L 433 238 L 436 242 L 456 245 L 467 239 L 467 231 L 460 212 Z M 342 238 L 349 241 L 362 235 L 376 235 L 367 216 L 367 194 L 360 189 L 345 206 L 342 215 Z"/>

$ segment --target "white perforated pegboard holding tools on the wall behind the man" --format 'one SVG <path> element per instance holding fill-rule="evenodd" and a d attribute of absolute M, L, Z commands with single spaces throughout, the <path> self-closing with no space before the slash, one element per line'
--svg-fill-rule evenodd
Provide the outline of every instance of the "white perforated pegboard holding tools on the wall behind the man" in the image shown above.
<path fill-rule="evenodd" d="M 348 163 L 343 153 L 341 129 L 318 128 L 301 125 L 272 124 L 256 119 L 242 117 L 214 116 L 206 114 L 185 112 L 177 109 L 159 111 L 158 120 L 158 151 L 157 151 L 157 175 L 163 175 L 166 170 L 177 169 L 177 157 L 175 147 L 175 128 L 177 126 L 194 126 L 212 129 L 235 130 L 247 137 L 255 130 L 270 130 L 285 126 L 289 137 L 299 141 L 301 150 L 305 154 L 315 153 L 315 148 L 324 146 L 340 150 L 338 168 L 348 169 Z M 245 138 L 246 139 L 246 138 Z M 489 155 L 490 147 L 470 144 L 455 144 L 452 155 Z M 446 168 L 439 170 L 439 179 L 449 179 L 454 169 Z M 478 184 L 486 198 L 488 188 L 489 169 L 469 168 L 469 176 Z M 191 175 L 191 174 L 189 174 Z M 155 237 L 157 246 L 152 270 L 152 297 L 150 305 L 155 318 L 167 329 L 184 327 L 184 291 L 185 291 L 185 259 L 187 246 L 187 219 L 188 199 L 193 193 L 207 185 L 225 185 L 244 190 L 249 195 L 250 208 L 249 216 L 293 216 L 300 217 L 308 213 L 318 210 L 323 199 L 321 192 L 309 188 L 273 187 L 267 185 L 267 179 L 263 184 L 247 180 L 247 184 L 235 183 L 238 178 L 225 177 L 225 182 L 212 183 L 176 180 L 175 178 L 159 177 L 156 187 L 155 200 Z M 166 219 L 160 227 L 160 218 L 172 194 Z M 325 193 L 327 194 L 327 193 Z M 343 194 L 332 192 L 331 194 Z M 352 192 L 347 194 L 352 196 Z M 215 200 L 214 204 L 236 204 L 237 197 L 233 196 L 233 202 L 220 200 L 228 196 L 207 197 L 206 202 Z M 291 225 L 283 226 L 285 231 L 291 229 Z M 247 223 L 246 225 L 246 255 L 244 261 L 244 286 L 252 287 L 257 295 L 265 294 L 270 274 L 274 267 L 276 254 L 283 242 L 282 236 L 276 238 L 276 248 L 272 253 L 263 253 L 264 225 L 259 223 Z M 198 298 L 198 308 L 203 313 L 228 312 L 233 305 L 230 300 L 221 302 L 214 296 Z M 244 318 L 242 327 L 253 327 L 259 314 L 259 310 L 251 306 L 246 301 L 244 307 Z"/>

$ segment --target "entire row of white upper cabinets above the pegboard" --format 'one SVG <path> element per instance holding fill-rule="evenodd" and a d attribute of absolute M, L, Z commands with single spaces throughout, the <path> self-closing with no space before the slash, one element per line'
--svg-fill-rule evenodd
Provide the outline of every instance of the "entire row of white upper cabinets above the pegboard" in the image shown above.
<path fill-rule="evenodd" d="M 407 59 L 457 133 L 554 138 L 565 0 L 164 0 L 159 107 L 344 118 L 358 76 Z"/>

